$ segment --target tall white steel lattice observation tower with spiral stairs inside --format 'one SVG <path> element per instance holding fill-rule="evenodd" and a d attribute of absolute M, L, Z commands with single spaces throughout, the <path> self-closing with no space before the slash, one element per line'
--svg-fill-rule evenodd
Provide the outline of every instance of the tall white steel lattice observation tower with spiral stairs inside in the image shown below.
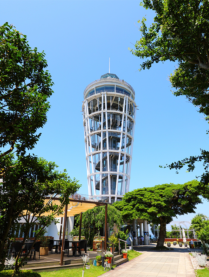
<path fill-rule="evenodd" d="M 89 195 L 114 202 L 129 191 L 136 104 L 134 89 L 107 73 L 84 90 L 83 126 Z"/>

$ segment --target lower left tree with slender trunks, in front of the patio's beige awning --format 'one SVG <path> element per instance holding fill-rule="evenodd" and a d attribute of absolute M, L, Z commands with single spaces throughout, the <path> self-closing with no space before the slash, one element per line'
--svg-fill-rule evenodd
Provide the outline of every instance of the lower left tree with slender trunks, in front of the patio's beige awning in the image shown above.
<path fill-rule="evenodd" d="M 55 215 L 62 213 L 64 205 L 69 202 L 69 196 L 80 187 L 75 179 L 70 179 L 65 170 L 56 170 L 58 166 L 54 162 L 47 162 L 35 156 L 19 156 L 15 159 L 14 155 L 10 155 L 10 159 L 7 157 L 6 166 L 8 170 L 0 186 L 1 266 L 4 264 L 9 239 L 14 235 L 14 226 L 18 219 L 23 217 L 26 222 L 22 227 L 23 243 L 31 226 L 36 220 L 39 221 L 42 228 L 36 233 L 36 239 L 44 227 L 56 221 Z M 60 205 L 52 203 L 56 197 L 60 197 Z M 49 215 L 44 215 L 45 212 Z M 20 252 L 16 258 L 16 271 L 26 259 L 24 257 L 18 261 L 19 256 Z"/>

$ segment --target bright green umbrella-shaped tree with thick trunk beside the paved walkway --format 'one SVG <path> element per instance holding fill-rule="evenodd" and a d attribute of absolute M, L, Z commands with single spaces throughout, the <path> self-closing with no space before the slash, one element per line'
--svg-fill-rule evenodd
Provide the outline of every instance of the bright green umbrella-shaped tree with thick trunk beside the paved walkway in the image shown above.
<path fill-rule="evenodd" d="M 126 220 L 145 219 L 159 224 L 157 247 L 164 246 L 166 224 L 177 215 L 194 213 L 195 205 L 202 203 L 199 198 L 199 182 L 185 184 L 162 184 L 151 188 L 139 188 L 127 192 L 120 202 L 114 203 Z"/>

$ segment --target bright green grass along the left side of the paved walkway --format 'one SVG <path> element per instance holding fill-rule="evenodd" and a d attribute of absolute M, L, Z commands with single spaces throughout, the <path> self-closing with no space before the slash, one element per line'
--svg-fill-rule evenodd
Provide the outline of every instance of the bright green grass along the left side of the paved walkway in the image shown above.
<path fill-rule="evenodd" d="M 138 257 L 142 253 L 134 250 L 128 251 L 129 261 Z M 41 277 L 82 277 L 83 268 L 72 268 L 72 269 L 62 269 L 56 271 L 40 272 Z M 97 277 L 104 273 L 104 267 L 100 266 L 90 266 L 90 269 L 84 269 L 84 277 Z"/>

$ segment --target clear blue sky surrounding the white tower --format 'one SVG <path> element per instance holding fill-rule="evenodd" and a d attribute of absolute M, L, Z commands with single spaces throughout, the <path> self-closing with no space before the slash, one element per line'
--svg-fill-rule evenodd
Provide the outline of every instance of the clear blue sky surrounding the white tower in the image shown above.
<path fill-rule="evenodd" d="M 134 88 L 138 105 L 130 190 L 181 184 L 203 172 L 201 164 L 192 173 L 159 168 L 208 149 L 208 124 L 187 99 L 172 95 L 168 75 L 176 63 L 138 72 L 141 60 L 128 50 L 140 38 L 134 23 L 139 26 L 146 15 L 149 25 L 154 17 L 140 1 L 0 1 L 0 6 L 0 25 L 13 24 L 31 48 L 45 51 L 54 81 L 48 121 L 33 153 L 67 169 L 82 184 L 80 193 L 88 194 L 83 91 L 109 71 L 109 57 L 110 72 Z M 209 216 L 208 210 L 204 201 L 196 212 Z"/>

